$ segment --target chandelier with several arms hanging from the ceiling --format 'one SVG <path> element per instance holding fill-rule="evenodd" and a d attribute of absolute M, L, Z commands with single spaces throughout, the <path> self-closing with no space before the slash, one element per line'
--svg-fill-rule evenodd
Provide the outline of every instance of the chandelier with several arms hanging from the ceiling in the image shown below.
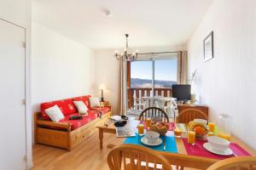
<path fill-rule="evenodd" d="M 138 51 L 136 51 L 136 53 L 133 53 L 133 54 L 129 54 L 129 52 L 131 51 L 130 48 L 128 48 L 128 37 L 129 37 L 129 34 L 125 34 L 125 37 L 126 37 L 126 46 L 125 46 L 125 50 L 123 53 L 121 54 L 118 54 L 118 51 L 115 51 L 115 58 L 116 59 L 119 59 L 119 60 L 123 60 L 123 61 L 133 61 L 133 60 L 136 60 L 137 59 L 137 54 L 138 54 Z"/>

